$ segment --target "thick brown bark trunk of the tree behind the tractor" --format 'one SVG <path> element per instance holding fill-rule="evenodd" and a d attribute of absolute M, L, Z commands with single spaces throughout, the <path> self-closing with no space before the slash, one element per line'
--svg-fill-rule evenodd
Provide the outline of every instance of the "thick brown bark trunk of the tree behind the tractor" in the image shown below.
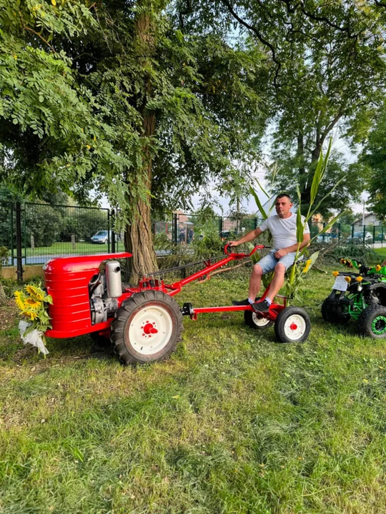
<path fill-rule="evenodd" d="M 138 59 L 142 64 L 142 69 L 148 70 L 152 67 L 152 57 L 156 51 L 156 27 L 154 24 L 152 0 L 143 0 L 139 2 L 146 10 L 139 10 L 137 19 L 134 21 L 134 49 L 137 51 Z M 142 136 L 145 141 L 149 141 L 154 136 L 156 127 L 156 117 L 154 112 L 147 109 L 148 100 L 152 97 L 152 79 L 149 71 L 144 72 L 144 87 L 142 104 L 137 106 L 139 113 L 142 115 Z M 152 153 L 147 143 L 142 148 L 143 168 L 137 172 L 137 181 L 139 190 L 151 191 L 152 189 Z M 128 259 L 129 281 L 137 283 L 142 276 L 151 271 L 157 271 L 157 258 L 154 251 L 152 238 L 152 220 L 150 211 L 150 196 L 131 198 L 131 202 L 135 202 L 134 216 L 131 225 L 127 226 L 124 235 L 124 246 L 126 251 L 132 253 L 132 258 Z"/>

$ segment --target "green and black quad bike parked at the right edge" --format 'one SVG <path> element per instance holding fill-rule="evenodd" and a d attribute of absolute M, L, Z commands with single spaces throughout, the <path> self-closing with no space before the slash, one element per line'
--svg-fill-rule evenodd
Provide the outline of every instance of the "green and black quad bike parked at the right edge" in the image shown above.
<path fill-rule="evenodd" d="M 361 336 L 386 338 L 386 266 L 367 268 L 352 259 L 340 259 L 355 271 L 334 271 L 332 293 L 322 303 L 322 317 L 331 323 L 357 321 Z"/>

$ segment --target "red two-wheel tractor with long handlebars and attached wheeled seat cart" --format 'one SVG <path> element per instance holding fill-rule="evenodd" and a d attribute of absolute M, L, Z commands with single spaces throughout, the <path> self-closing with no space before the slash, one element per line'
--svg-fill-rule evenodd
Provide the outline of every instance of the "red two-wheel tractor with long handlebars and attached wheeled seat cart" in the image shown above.
<path fill-rule="evenodd" d="M 49 306 L 52 328 L 46 336 L 70 338 L 89 333 L 93 338 L 110 338 L 121 361 L 147 363 L 168 358 L 176 349 L 182 338 L 183 316 L 195 320 L 200 313 L 244 311 L 244 319 L 252 328 L 274 323 L 282 343 L 305 341 L 310 318 L 301 308 L 286 308 L 284 296 L 280 297 L 282 303 L 272 303 L 267 313 L 255 313 L 250 306 L 193 308 L 191 303 L 184 303 L 179 308 L 172 298 L 187 283 L 209 277 L 215 269 L 262 248 L 259 245 L 251 253 L 231 253 L 225 246 L 220 260 L 202 261 L 201 271 L 181 281 L 166 284 L 154 273 L 142 278 L 137 287 L 122 284 L 117 261 L 131 257 L 131 253 L 51 259 L 44 266 L 46 290 L 53 298 Z M 269 287 L 261 300 L 268 291 Z"/>

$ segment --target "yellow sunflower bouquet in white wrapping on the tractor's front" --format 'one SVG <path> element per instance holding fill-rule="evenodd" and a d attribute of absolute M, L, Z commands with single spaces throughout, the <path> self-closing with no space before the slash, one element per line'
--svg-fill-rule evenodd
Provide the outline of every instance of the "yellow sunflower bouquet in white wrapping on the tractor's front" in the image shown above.
<path fill-rule="evenodd" d="M 52 305 L 52 296 L 39 286 L 29 284 L 23 291 L 15 292 L 16 306 L 20 309 L 21 316 L 27 318 L 19 322 L 19 331 L 24 344 L 29 343 L 38 348 L 39 352 L 49 353 L 45 343 L 44 333 L 51 328 L 48 314 L 48 306 Z"/>

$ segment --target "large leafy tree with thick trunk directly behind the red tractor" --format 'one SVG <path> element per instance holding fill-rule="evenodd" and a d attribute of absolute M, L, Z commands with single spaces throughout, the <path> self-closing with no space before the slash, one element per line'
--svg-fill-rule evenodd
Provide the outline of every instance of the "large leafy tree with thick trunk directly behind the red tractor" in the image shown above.
<path fill-rule="evenodd" d="M 157 268 L 150 198 L 183 206 L 210 178 L 227 191 L 254 156 L 261 52 L 183 34 L 165 1 L 6 4 L 3 173 L 34 193 L 107 193 L 133 278 Z"/>

